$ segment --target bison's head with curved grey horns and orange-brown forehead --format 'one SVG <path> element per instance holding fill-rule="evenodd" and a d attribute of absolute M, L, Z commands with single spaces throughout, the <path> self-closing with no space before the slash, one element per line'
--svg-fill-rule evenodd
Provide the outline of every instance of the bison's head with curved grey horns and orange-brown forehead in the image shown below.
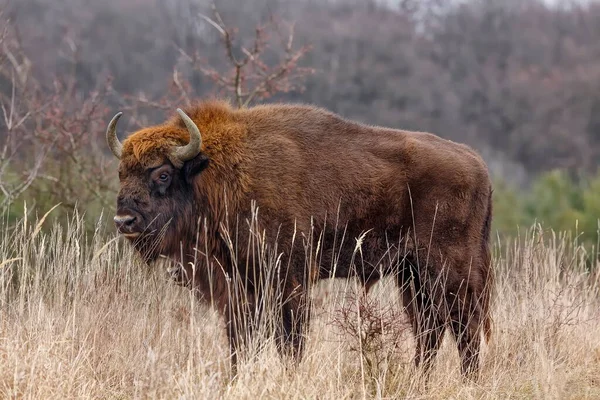
<path fill-rule="evenodd" d="M 108 145 L 120 159 L 115 225 L 147 260 L 174 251 L 166 247 L 176 247 L 175 237 L 193 229 L 193 177 L 208 164 L 200 130 L 183 111 L 177 112 L 183 124 L 145 128 L 123 143 L 116 134 L 122 113 L 106 131 Z"/>

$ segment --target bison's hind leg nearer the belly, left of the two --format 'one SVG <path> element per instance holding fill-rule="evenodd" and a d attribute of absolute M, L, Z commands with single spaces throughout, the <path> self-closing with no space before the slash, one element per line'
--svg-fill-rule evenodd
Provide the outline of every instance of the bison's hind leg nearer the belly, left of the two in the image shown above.
<path fill-rule="evenodd" d="M 428 289 L 429 285 L 423 284 L 415 264 L 408 261 L 404 263 L 404 268 L 398 274 L 398 284 L 415 335 L 415 365 L 422 367 L 427 377 L 444 337 L 444 321 Z"/>

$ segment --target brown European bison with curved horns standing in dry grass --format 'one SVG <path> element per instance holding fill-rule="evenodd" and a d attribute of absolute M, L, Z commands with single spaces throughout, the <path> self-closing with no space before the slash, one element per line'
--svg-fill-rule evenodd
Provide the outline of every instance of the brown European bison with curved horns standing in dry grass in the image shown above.
<path fill-rule="evenodd" d="M 480 336 L 491 332 L 492 188 L 472 149 L 306 105 L 234 109 L 205 101 L 177 111 L 123 143 L 115 131 L 121 113 L 110 122 L 108 144 L 121 160 L 114 219 L 147 262 L 175 260 L 189 277 L 184 283 L 213 299 L 226 320 L 234 374 L 239 334 L 255 326 L 260 308 L 256 277 L 269 275 L 244 251 L 254 238 L 240 227 L 255 205 L 255 232 L 277 240 L 285 260 L 271 274 L 285 299 L 280 354 L 302 356 L 312 283 L 354 276 L 368 291 L 393 275 L 416 335 L 416 364 L 429 370 L 449 327 L 462 373 L 477 375 Z M 224 232 L 232 224 L 236 232 Z M 310 240 L 319 255 L 307 260 Z M 241 291 L 231 288 L 234 276 Z"/>

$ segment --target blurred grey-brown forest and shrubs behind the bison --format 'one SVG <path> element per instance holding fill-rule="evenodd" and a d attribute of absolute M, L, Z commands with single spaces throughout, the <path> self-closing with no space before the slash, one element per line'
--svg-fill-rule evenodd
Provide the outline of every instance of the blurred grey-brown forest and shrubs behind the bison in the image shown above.
<path fill-rule="evenodd" d="M 58 203 L 55 218 L 76 207 L 90 221 L 111 215 L 112 115 L 124 111 L 124 137 L 218 95 L 313 103 L 465 142 L 492 171 L 499 234 L 537 221 L 596 245 L 600 3 L 217 0 L 218 14 L 211 4 L 5 3 L 0 194 L 10 218 Z"/>

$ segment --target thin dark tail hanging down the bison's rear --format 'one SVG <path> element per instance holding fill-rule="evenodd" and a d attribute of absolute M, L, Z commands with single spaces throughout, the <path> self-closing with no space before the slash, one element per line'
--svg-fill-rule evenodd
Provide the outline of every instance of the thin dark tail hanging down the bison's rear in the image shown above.
<path fill-rule="evenodd" d="M 484 288 L 482 293 L 481 311 L 483 313 L 483 335 L 485 341 L 489 342 L 492 337 L 492 315 L 490 310 L 490 302 L 495 286 L 494 271 L 492 268 L 492 255 L 490 250 L 490 233 L 492 230 L 492 189 L 488 197 L 487 212 L 482 232 L 482 255 L 483 255 L 483 272 L 484 272 Z"/>

